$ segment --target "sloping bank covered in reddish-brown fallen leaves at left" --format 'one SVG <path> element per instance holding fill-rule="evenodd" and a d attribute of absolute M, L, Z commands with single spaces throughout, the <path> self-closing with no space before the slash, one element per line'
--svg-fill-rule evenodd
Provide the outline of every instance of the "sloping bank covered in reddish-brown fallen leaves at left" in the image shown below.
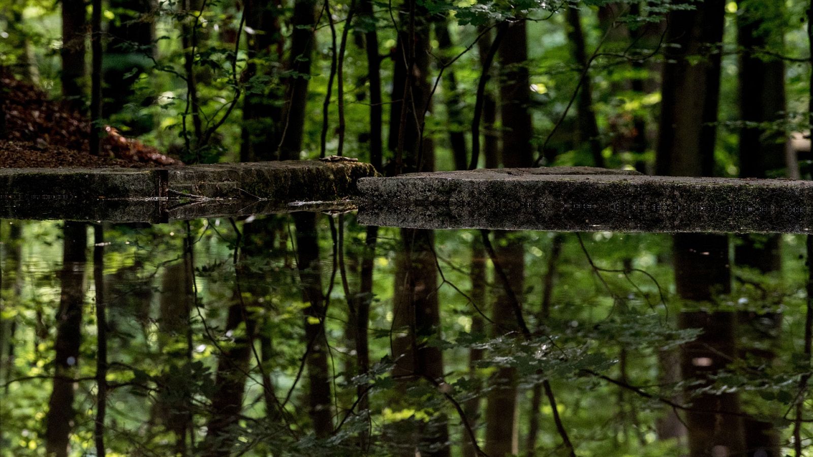
<path fill-rule="evenodd" d="M 181 165 L 152 146 L 106 126 L 102 155 L 89 152 L 90 121 L 24 81 L 0 76 L 6 90 L 6 138 L 0 168 L 160 167 Z"/>

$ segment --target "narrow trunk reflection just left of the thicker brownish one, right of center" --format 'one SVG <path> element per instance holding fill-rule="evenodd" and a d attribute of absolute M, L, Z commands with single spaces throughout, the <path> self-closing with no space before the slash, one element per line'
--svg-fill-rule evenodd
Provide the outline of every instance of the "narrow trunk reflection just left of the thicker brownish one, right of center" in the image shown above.
<path fill-rule="evenodd" d="M 480 310 L 485 311 L 485 281 L 487 281 L 485 262 L 486 257 L 485 248 L 483 247 L 483 243 L 480 242 L 480 238 L 475 237 L 474 239 L 475 241 L 472 242 L 471 272 L 469 273 L 469 278 L 471 278 L 472 281 L 472 290 L 469 292 L 469 297 L 472 298 L 472 304 L 469 306 L 472 308 L 470 309 L 469 313 L 472 316 L 472 333 L 482 334 L 485 332 L 485 323 L 482 316 L 480 316 L 480 313 L 473 307 L 477 307 Z M 479 362 L 480 359 L 483 359 L 483 352 L 484 351 L 482 349 L 472 348 L 468 353 L 468 373 L 474 382 L 476 382 L 478 379 L 476 374 L 476 366 L 477 362 Z M 481 386 L 479 383 L 472 386 L 472 389 L 475 392 L 480 390 L 480 388 Z M 468 400 L 463 405 L 463 411 L 466 413 L 468 424 L 472 427 L 472 429 L 476 429 L 478 416 L 480 416 L 480 396 L 476 395 L 471 400 Z M 474 449 L 474 446 L 472 446 L 471 440 L 467 439 L 464 431 L 463 457 L 475 456 L 476 450 Z"/>

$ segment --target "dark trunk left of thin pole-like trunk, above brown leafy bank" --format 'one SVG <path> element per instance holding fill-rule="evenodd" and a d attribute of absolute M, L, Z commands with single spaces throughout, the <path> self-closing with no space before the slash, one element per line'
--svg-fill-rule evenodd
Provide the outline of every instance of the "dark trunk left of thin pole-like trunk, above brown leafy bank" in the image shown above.
<path fill-rule="evenodd" d="M 85 111 L 85 24 L 87 15 L 84 0 L 63 0 L 62 2 L 62 55 L 63 97 L 75 111 Z"/>

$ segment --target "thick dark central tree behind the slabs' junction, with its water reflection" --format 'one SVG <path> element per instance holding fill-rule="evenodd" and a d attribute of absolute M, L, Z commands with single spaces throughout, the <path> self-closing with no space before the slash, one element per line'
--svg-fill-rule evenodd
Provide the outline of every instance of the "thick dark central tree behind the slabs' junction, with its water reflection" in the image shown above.
<path fill-rule="evenodd" d="M 415 0 L 407 0 L 399 14 L 389 119 L 389 149 L 395 159 L 390 171 L 428 172 L 434 168 L 433 142 L 424 137 L 424 113 L 430 107 L 429 24 Z M 440 329 L 436 268 L 433 231 L 402 228 L 395 271 L 398 292 L 393 300 L 393 328 L 402 331 L 392 345 L 398 360 L 393 369 L 396 376 L 443 379 L 443 353 L 426 344 Z M 450 455 L 445 417 L 420 424 L 418 434 L 415 446 L 422 455 Z"/>

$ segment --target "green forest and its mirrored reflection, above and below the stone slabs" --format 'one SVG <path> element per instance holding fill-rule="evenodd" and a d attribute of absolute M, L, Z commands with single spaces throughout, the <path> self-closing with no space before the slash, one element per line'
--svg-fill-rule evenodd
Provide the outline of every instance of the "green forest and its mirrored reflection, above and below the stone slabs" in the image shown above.
<path fill-rule="evenodd" d="M 0 0 L 0 168 L 810 180 L 813 3 Z M 335 159 L 335 158 L 334 158 Z M 813 456 L 813 237 L 0 220 L 0 456 Z"/>

